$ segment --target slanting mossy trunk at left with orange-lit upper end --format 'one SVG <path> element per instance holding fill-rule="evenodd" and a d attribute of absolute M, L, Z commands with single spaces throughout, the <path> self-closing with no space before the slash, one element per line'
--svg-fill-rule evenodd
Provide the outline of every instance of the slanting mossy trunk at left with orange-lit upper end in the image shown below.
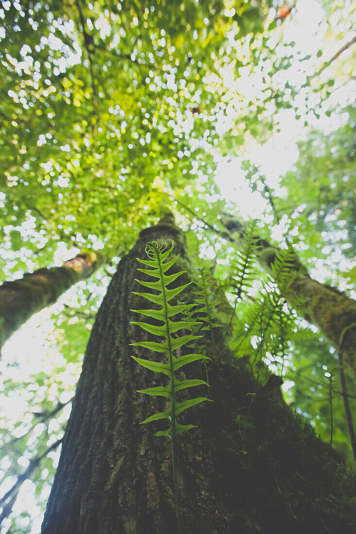
<path fill-rule="evenodd" d="M 88 278 L 103 263 L 97 252 L 81 252 L 61 267 L 38 269 L 0 286 L 0 349 L 34 313 L 57 301 L 73 284 Z"/>

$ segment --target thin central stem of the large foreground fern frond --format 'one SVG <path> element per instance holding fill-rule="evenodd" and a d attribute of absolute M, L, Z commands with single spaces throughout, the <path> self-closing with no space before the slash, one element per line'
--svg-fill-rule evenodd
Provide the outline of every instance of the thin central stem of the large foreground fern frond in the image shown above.
<path fill-rule="evenodd" d="M 172 470 L 173 470 L 173 484 L 174 484 L 175 513 L 177 516 L 177 534 L 181 534 L 181 528 L 180 528 L 180 515 L 181 514 L 180 514 L 180 505 L 179 505 L 178 484 L 177 484 L 177 466 L 176 466 L 176 454 L 175 454 L 175 382 L 174 382 L 174 367 L 173 367 L 173 351 L 172 351 L 171 335 L 169 333 L 169 317 L 167 313 L 168 302 L 167 302 L 166 288 L 164 284 L 164 276 L 163 276 L 161 258 L 159 255 L 158 248 L 157 248 L 157 261 L 158 261 L 160 280 L 161 280 L 161 286 L 162 286 L 162 295 L 164 299 L 164 310 L 165 310 L 165 318 L 166 318 L 166 335 L 167 335 L 168 351 L 169 351 L 169 355 L 168 355 L 169 356 L 169 368 L 171 369 L 171 376 L 172 376 L 171 378 Z"/>

